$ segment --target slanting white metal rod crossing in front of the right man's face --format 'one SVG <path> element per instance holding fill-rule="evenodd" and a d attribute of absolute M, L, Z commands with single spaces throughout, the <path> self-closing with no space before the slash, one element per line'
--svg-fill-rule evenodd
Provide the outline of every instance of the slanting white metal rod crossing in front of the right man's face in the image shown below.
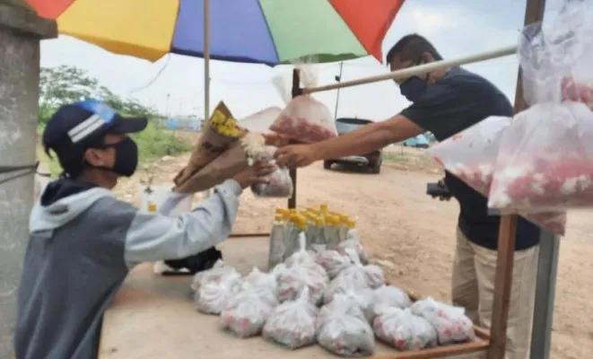
<path fill-rule="evenodd" d="M 345 81 L 344 83 L 332 83 L 332 84 L 327 84 L 325 86 L 310 87 L 307 89 L 303 89 L 302 92 L 303 93 L 322 92 L 322 91 L 341 89 L 344 87 L 357 86 L 359 84 L 365 84 L 365 83 L 378 83 L 379 81 L 402 79 L 402 78 L 414 76 L 416 74 L 430 73 L 432 71 L 439 70 L 441 68 L 472 64 L 475 62 L 490 60 L 490 59 L 497 58 L 497 57 L 505 57 L 505 56 L 513 55 L 515 53 L 517 53 L 517 46 L 513 45 L 513 46 L 508 46 L 506 48 L 498 48 L 493 51 L 486 51 L 486 52 L 481 52 L 479 54 L 469 55 L 466 57 L 458 57 L 458 58 L 454 58 L 452 60 L 441 60 L 441 61 L 432 62 L 430 64 L 408 67 L 408 68 L 404 68 L 402 70 L 397 70 L 397 71 L 394 71 L 394 72 L 391 72 L 388 74 L 379 74 L 376 76 L 363 77 L 363 78 L 360 78 L 357 80 Z"/>

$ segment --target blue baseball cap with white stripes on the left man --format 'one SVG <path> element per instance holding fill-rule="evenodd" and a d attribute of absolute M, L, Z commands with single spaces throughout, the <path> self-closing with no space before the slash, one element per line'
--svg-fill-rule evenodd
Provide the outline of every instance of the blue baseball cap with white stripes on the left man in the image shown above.
<path fill-rule="evenodd" d="M 146 128 L 147 118 L 126 118 L 103 101 L 86 100 L 63 105 L 43 131 L 46 153 L 51 149 L 65 167 L 83 162 L 88 148 L 99 146 L 107 134 L 133 134 Z M 64 169 L 67 171 L 67 169 Z"/>

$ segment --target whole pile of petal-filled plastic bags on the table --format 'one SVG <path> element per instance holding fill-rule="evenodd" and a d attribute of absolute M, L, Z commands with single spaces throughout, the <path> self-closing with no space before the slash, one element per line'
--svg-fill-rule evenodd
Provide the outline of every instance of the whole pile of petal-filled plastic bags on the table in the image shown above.
<path fill-rule="evenodd" d="M 402 351 L 474 339 L 463 309 L 432 298 L 413 303 L 385 283 L 380 267 L 362 263 L 358 245 L 344 254 L 308 250 L 307 233 L 301 228 L 297 250 L 267 273 L 240 276 L 222 260 L 197 273 L 196 310 L 220 315 L 235 337 L 261 335 L 288 349 L 318 344 L 341 356 L 373 355 L 375 337 Z"/>

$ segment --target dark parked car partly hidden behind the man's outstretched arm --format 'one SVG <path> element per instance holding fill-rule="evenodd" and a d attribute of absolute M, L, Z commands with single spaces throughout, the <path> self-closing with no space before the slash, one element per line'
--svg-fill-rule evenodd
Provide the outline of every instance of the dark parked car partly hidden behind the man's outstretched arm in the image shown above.
<path fill-rule="evenodd" d="M 372 121 L 362 118 L 337 118 L 337 134 L 338 136 L 342 136 L 370 123 L 372 123 Z M 323 168 L 329 170 L 331 169 L 332 164 L 337 163 L 344 165 L 355 165 L 362 168 L 366 168 L 369 171 L 371 171 L 371 173 L 379 173 L 381 171 L 382 162 L 383 153 L 379 150 L 373 151 L 371 153 L 364 153 L 355 156 L 337 158 L 335 160 L 326 160 L 323 162 Z"/>

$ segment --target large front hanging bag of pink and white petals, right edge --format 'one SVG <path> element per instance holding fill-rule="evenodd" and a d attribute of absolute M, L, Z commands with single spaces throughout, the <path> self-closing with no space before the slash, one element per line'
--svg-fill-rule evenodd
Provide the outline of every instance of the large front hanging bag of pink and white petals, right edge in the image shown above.
<path fill-rule="evenodd" d="M 593 112 L 583 103 L 536 104 L 501 138 L 488 206 L 543 212 L 593 206 Z"/>

